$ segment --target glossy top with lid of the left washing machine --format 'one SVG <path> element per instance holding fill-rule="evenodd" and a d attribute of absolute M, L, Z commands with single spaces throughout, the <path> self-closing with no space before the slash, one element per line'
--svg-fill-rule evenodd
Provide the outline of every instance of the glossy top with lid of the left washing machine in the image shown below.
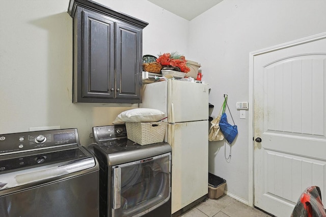
<path fill-rule="evenodd" d="M 96 165 L 94 157 L 83 147 L 33 153 L 0 160 L 0 196 L 6 189 L 68 178 L 78 171 L 86 173 Z"/>

